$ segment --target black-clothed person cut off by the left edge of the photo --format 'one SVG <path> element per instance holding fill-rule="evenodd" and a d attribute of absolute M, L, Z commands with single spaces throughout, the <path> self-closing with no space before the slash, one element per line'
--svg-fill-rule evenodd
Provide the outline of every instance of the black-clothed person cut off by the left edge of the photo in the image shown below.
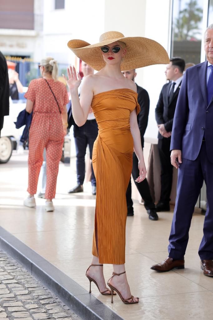
<path fill-rule="evenodd" d="M 0 51 L 0 134 L 3 128 L 4 116 L 9 115 L 9 79 L 7 62 Z"/>

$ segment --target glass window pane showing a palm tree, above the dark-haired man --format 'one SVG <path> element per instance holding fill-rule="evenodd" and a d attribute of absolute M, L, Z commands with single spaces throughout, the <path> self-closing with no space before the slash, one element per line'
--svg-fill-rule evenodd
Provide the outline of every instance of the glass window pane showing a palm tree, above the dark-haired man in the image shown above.
<path fill-rule="evenodd" d="M 203 0 L 173 0 L 171 57 L 201 62 L 202 20 Z"/>

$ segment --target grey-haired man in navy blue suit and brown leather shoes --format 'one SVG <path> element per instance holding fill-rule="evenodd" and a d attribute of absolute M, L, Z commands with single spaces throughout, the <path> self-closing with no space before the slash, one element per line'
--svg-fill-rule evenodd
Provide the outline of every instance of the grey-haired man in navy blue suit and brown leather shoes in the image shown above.
<path fill-rule="evenodd" d="M 213 276 L 213 24 L 205 32 L 207 61 L 188 68 L 183 77 L 171 135 L 171 164 L 178 169 L 177 197 L 168 258 L 151 269 L 184 268 L 194 206 L 203 180 L 207 210 L 199 248 L 205 276 Z"/>

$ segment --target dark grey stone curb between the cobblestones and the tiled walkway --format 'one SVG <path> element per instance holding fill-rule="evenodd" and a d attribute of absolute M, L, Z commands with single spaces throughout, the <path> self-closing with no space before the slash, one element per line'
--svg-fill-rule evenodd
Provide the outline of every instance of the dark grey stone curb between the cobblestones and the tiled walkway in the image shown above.
<path fill-rule="evenodd" d="M 124 320 L 2 227 L 0 246 L 83 320 Z"/>

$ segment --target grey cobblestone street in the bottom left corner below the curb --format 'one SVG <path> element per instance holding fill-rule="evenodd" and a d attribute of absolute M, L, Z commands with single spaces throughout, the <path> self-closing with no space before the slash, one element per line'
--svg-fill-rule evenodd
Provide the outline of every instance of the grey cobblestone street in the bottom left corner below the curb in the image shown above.
<path fill-rule="evenodd" d="M 81 320 L 1 249 L 0 306 L 1 320 Z"/>

